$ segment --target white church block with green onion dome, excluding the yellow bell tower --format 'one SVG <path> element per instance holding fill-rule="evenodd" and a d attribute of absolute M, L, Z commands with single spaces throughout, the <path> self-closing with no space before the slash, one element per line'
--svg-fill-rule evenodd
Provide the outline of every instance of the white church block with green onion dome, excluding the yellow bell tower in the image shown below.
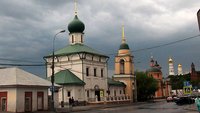
<path fill-rule="evenodd" d="M 78 101 L 101 101 L 107 95 L 109 57 L 84 44 L 84 29 L 75 11 L 74 19 L 68 24 L 69 44 L 55 51 L 55 83 L 62 85 L 59 102 L 68 102 L 72 97 Z M 52 54 L 44 58 L 47 77 L 51 77 Z"/>

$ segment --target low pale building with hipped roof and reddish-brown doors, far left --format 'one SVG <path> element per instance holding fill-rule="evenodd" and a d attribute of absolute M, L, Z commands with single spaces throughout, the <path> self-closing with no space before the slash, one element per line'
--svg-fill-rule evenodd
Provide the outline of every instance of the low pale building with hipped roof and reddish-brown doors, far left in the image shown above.
<path fill-rule="evenodd" d="M 19 68 L 0 69 L 0 77 L 0 112 L 48 110 L 49 81 Z"/>

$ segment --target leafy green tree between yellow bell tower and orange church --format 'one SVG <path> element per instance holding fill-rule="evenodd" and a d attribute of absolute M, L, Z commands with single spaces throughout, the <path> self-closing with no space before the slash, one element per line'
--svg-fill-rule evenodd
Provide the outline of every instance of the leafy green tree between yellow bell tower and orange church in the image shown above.
<path fill-rule="evenodd" d="M 158 81 L 144 72 L 135 72 L 138 101 L 151 99 L 158 90 Z"/>

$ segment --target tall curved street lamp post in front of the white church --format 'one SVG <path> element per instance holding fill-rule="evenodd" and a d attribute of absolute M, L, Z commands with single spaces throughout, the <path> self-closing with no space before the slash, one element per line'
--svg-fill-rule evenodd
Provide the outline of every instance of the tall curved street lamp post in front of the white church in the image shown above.
<path fill-rule="evenodd" d="M 55 109 L 54 109 L 54 90 L 55 90 L 55 88 L 54 88 L 54 57 L 55 57 L 55 53 L 54 53 L 54 42 L 55 42 L 55 39 L 56 39 L 56 36 L 59 34 L 59 33 L 64 33 L 65 32 L 65 30 L 62 30 L 62 31 L 60 31 L 60 32 L 58 32 L 58 33 L 56 33 L 55 35 L 54 35 L 54 38 L 53 38 L 53 51 L 52 51 L 52 66 L 51 66 L 51 68 L 52 68 L 52 75 L 51 75 L 51 83 L 52 83 L 52 86 L 51 86 L 51 110 L 52 111 L 54 111 Z"/>

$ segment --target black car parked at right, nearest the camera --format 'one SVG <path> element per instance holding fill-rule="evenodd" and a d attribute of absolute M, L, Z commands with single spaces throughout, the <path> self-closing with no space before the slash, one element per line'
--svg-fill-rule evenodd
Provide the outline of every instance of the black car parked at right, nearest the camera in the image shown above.
<path fill-rule="evenodd" d="M 191 97 L 180 97 L 175 103 L 177 105 L 193 104 L 195 100 Z"/>

